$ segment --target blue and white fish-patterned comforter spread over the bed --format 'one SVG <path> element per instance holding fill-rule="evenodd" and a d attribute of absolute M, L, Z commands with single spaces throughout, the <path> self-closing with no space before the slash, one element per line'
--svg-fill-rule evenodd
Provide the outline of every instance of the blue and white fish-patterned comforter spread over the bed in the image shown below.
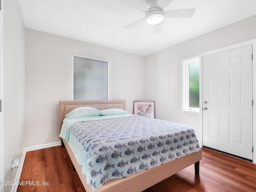
<path fill-rule="evenodd" d="M 69 129 L 88 154 L 87 177 L 94 190 L 107 180 L 200 151 L 190 126 L 154 118 L 130 116 L 77 122 Z"/>

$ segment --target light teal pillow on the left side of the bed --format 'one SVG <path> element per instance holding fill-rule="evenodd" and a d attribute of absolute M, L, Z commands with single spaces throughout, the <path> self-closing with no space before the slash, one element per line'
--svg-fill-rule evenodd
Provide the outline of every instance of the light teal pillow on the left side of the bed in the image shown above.
<path fill-rule="evenodd" d="M 100 116 L 102 112 L 93 107 L 78 107 L 66 114 L 67 119 Z"/>

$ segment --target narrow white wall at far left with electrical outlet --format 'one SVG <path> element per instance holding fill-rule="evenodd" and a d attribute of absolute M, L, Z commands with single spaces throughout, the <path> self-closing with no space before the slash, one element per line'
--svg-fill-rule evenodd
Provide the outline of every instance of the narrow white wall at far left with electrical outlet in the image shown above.
<path fill-rule="evenodd" d="M 5 0 L 2 8 L 4 181 L 14 181 L 17 169 L 10 174 L 10 158 L 21 158 L 24 149 L 25 27 L 18 1 Z M 4 186 L 4 191 L 11 188 Z"/>

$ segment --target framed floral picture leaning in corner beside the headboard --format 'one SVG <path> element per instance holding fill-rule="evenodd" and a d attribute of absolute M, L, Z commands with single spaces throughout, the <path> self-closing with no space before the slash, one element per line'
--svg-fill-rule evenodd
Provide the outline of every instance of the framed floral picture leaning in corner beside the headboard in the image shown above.
<path fill-rule="evenodd" d="M 134 101 L 133 114 L 155 118 L 155 101 Z"/>

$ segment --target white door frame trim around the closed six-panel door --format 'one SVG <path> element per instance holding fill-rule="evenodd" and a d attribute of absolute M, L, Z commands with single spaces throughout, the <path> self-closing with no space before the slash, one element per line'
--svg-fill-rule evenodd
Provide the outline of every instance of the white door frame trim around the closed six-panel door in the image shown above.
<path fill-rule="evenodd" d="M 252 144 L 254 146 L 254 153 L 252 156 L 253 163 L 256 164 L 256 39 L 248 40 L 246 42 L 241 42 L 238 44 L 234 44 L 231 46 L 226 46 L 223 48 L 218 48 L 216 50 L 204 52 L 200 54 L 200 72 L 199 72 L 199 110 L 200 110 L 200 118 L 199 118 L 199 143 L 202 146 L 203 145 L 203 57 L 210 55 L 210 54 L 216 54 L 219 52 L 228 51 L 231 49 L 240 48 L 243 46 L 252 45 L 252 53 L 253 53 L 253 60 L 252 60 L 252 99 L 254 100 L 254 107 L 252 108 Z"/>

